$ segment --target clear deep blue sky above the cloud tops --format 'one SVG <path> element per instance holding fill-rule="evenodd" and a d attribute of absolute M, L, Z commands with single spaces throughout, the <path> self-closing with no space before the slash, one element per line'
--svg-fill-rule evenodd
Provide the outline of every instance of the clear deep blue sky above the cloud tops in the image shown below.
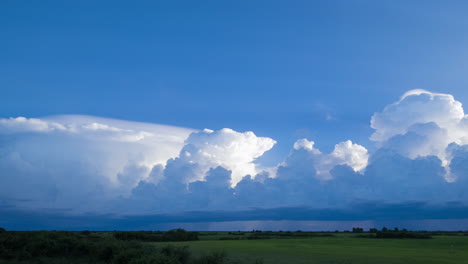
<path fill-rule="evenodd" d="M 468 102 L 467 8 L 1 1 L 0 113 L 252 130 L 278 140 L 277 152 L 300 137 L 325 151 L 346 139 L 372 149 L 370 117 L 407 90 Z"/>

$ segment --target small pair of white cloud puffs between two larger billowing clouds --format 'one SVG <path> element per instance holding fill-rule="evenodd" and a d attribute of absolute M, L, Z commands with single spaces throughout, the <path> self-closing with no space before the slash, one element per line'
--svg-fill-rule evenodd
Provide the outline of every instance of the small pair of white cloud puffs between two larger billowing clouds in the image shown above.
<path fill-rule="evenodd" d="M 314 167 L 315 175 L 321 180 L 330 180 L 330 171 L 338 165 L 347 165 L 358 172 L 367 166 L 369 153 L 361 145 L 353 143 L 351 140 L 335 145 L 332 153 L 324 154 L 314 148 L 314 142 L 307 139 L 299 139 L 294 143 L 293 153 L 287 160 L 286 165 L 295 164 L 295 157 L 303 159 L 304 155 L 297 155 L 295 152 L 306 151 L 308 163 Z"/>

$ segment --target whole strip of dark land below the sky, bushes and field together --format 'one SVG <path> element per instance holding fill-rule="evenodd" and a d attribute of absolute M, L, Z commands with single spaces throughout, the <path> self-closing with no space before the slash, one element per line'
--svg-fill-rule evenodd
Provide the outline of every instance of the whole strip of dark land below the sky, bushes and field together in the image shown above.
<path fill-rule="evenodd" d="M 468 232 L 5 231 L 0 263 L 464 263 Z"/>

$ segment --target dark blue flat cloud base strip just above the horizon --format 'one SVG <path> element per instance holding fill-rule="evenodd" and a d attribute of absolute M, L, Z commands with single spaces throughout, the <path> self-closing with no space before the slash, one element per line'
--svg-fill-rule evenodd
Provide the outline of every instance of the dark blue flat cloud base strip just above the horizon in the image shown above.
<path fill-rule="evenodd" d="M 14 207 L 0 208 L 0 226 L 8 230 L 165 230 L 175 227 L 200 229 L 206 223 L 223 223 L 218 225 L 226 230 L 236 230 L 239 222 L 274 222 L 290 221 L 286 229 L 297 230 L 308 221 L 321 222 L 314 230 L 333 231 L 327 226 L 340 226 L 336 222 L 363 223 L 409 223 L 413 228 L 428 220 L 438 220 L 444 230 L 457 231 L 468 227 L 468 205 L 463 203 L 446 203 L 429 205 L 423 202 L 386 204 L 380 202 L 359 203 L 342 209 L 312 209 L 307 207 L 252 208 L 242 211 L 192 211 L 172 214 L 127 215 L 84 214 L 73 215 L 69 211 L 21 211 Z M 455 221 L 457 225 L 447 226 L 444 222 Z M 299 223 L 294 225 L 294 223 Z M 327 225 L 327 222 L 335 222 Z M 372 224 L 364 224 L 372 225 Z M 244 225 L 245 226 L 245 225 Z M 248 226 L 248 225 L 247 225 Z M 275 225 L 264 225 L 274 228 Z M 283 225 L 284 226 L 284 225 Z M 427 226 L 421 224 L 420 226 Z M 434 225 L 433 225 L 434 226 Z M 192 227 L 192 228 L 190 228 Z M 426 227 L 427 228 L 427 227 Z M 431 228 L 429 226 L 429 228 Z M 451 229 L 453 228 L 453 229 Z M 209 229 L 212 229 L 209 228 Z M 208 230 L 208 229 L 207 229 Z M 221 231 L 221 230 L 220 230 Z"/>

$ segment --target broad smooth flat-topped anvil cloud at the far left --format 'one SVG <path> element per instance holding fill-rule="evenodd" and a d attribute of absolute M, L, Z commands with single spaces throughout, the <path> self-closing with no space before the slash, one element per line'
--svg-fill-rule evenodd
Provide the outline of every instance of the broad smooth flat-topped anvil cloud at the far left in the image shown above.
<path fill-rule="evenodd" d="M 0 119 L 0 199 L 91 209 L 157 180 L 151 169 L 194 131 L 90 116 Z"/>

